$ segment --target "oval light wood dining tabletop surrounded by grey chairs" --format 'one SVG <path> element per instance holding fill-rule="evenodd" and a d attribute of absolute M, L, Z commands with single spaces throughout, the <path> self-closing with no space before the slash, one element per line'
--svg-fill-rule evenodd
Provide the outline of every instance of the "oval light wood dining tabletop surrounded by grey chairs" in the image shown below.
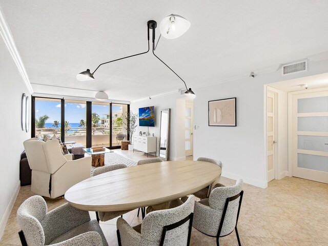
<path fill-rule="evenodd" d="M 65 199 L 87 211 L 132 210 L 192 194 L 220 174 L 218 165 L 204 161 L 149 163 L 83 180 L 65 193 Z"/>

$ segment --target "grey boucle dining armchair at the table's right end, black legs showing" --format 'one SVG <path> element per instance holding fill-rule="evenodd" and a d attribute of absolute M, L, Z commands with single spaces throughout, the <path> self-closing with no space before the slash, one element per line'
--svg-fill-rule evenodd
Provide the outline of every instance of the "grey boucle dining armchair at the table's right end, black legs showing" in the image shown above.
<path fill-rule="evenodd" d="M 209 198 L 195 202 L 193 227 L 198 231 L 216 237 L 224 237 L 236 231 L 238 244 L 240 239 L 237 230 L 238 216 L 242 200 L 242 180 L 231 187 L 214 188 Z"/>

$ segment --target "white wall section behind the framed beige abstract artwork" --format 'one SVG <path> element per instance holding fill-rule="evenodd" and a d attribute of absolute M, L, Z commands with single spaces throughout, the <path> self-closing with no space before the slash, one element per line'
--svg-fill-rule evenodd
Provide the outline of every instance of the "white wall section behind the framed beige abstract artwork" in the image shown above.
<path fill-rule="evenodd" d="M 263 84 L 237 81 L 199 88 L 195 91 L 194 159 L 200 156 L 221 160 L 222 176 L 243 178 L 265 187 L 263 144 Z M 237 127 L 208 126 L 208 101 L 237 97 Z"/>

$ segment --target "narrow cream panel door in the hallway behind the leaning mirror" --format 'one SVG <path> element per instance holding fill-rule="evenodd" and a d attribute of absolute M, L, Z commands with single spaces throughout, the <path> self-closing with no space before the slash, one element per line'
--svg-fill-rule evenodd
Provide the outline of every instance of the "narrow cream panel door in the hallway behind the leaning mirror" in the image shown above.
<path fill-rule="evenodd" d="M 193 155 L 193 103 L 186 101 L 185 148 L 186 156 Z"/>

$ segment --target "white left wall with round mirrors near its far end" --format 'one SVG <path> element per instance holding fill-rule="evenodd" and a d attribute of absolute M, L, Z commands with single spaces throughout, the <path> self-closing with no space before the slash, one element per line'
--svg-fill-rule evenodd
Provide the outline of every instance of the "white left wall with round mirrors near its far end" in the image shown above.
<path fill-rule="evenodd" d="M 28 88 L 20 76 L 3 40 L 0 38 L 0 237 L 3 235 L 11 206 L 19 191 L 19 160 L 23 152 L 23 141 L 30 132 L 22 131 L 20 126 L 20 103 L 22 94 L 30 97 Z M 30 107 L 31 108 L 31 107 Z M 30 113 L 29 113 L 30 116 Z"/>

